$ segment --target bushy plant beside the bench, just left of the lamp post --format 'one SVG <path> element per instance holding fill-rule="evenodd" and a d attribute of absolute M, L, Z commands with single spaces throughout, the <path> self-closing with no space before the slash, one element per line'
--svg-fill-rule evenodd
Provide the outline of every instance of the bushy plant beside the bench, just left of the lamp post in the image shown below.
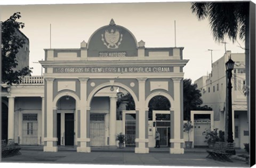
<path fill-rule="evenodd" d="M 219 141 L 224 141 L 224 132 L 219 131 L 219 136 L 218 136 L 218 129 L 214 129 L 213 131 L 204 131 L 203 135 L 205 136 L 205 141 L 208 143 L 209 148 L 213 148 L 215 142 Z"/>

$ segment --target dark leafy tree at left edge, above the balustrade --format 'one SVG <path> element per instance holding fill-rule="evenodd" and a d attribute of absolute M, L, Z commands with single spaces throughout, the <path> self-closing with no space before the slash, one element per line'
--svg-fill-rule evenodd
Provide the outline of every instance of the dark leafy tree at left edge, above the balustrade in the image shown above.
<path fill-rule="evenodd" d="M 9 19 L 1 22 L 2 83 L 8 85 L 19 84 L 21 82 L 20 77 L 26 76 L 31 72 L 29 67 L 14 70 L 18 66 L 16 54 L 25 44 L 25 39 L 17 34 L 17 31 L 24 27 L 24 23 L 17 21 L 20 17 L 20 12 L 16 12 Z"/>

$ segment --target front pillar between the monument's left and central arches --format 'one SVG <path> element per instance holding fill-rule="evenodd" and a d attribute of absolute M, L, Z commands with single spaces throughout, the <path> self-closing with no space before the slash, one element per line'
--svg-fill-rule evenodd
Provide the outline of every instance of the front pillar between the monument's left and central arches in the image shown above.
<path fill-rule="evenodd" d="M 89 78 L 78 78 L 80 81 L 81 87 L 81 98 L 80 98 L 80 110 L 77 111 L 77 152 L 81 153 L 90 153 L 91 148 L 89 145 L 90 138 L 87 138 L 87 127 L 88 123 L 90 124 L 90 115 L 88 117 L 87 113 L 87 81 Z M 89 111 L 90 113 L 90 111 Z"/>

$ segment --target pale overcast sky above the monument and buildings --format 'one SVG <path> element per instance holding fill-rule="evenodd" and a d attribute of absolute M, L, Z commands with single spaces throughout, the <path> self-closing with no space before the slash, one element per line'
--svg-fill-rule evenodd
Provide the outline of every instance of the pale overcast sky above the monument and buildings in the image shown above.
<path fill-rule="evenodd" d="M 11 4 L 12 1 L 7 2 Z M 82 2 L 86 1 L 78 3 Z M 198 21 L 191 12 L 190 2 L 56 4 L 60 2 L 51 1 L 51 5 L 47 5 L 47 1 L 37 3 L 46 5 L 0 3 L 1 21 L 8 19 L 14 12 L 21 12 L 19 21 L 25 23 L 25 28 L 21 31 L 29 38 L 29 62 L 30 67 L 34 68 L 33 75 L 41 75 L 41 65 L 33 62 L 44 59 L 43 49 L 50 48 L 50 24 L 52 49 L 78 49 L 82 41 L 88 42 L 94 31 L 108 25 L 111 18 L 116 25 L 129 29 L 138 42 L 142 39 L 146 47 L 174 47 L 175 20 L 177 47 L 184 47 L 183 59 L 189 60 L 184 68 L 185 78 L 191 78 L 193 82 L 211 71 L 211 52 L 208 49 L 214 50 L 213 62 L 225 53 L 224 44 L 214 42 L 209 21 Z M 226 42 L 227 50 L 232 53 L 244 53 L 237 42 L 233 44 L 228 38 Z M 243 41 L 238 42 L 244 47 Z"/>

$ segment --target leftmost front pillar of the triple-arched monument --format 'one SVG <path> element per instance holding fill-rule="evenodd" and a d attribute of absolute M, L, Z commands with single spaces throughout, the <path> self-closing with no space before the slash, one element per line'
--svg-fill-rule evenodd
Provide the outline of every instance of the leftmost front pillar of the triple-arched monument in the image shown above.
<path fill-rule="evenodd" d="M 44 138 L 44 151 L 57 152 L 57 117 L 54 113 L 57 113 L 57 109 L 53 109 L 53 81 L 54 78 L 45 78 L 46 82 L 46 111 L 45 111 L 45 128 L 46 135 Z M 56 120 L 54 120 L 56 119 Z M 56 128 L 55 128 L 56 126 Z M 56 132 L 56 135 L 55 135 Z"/>

